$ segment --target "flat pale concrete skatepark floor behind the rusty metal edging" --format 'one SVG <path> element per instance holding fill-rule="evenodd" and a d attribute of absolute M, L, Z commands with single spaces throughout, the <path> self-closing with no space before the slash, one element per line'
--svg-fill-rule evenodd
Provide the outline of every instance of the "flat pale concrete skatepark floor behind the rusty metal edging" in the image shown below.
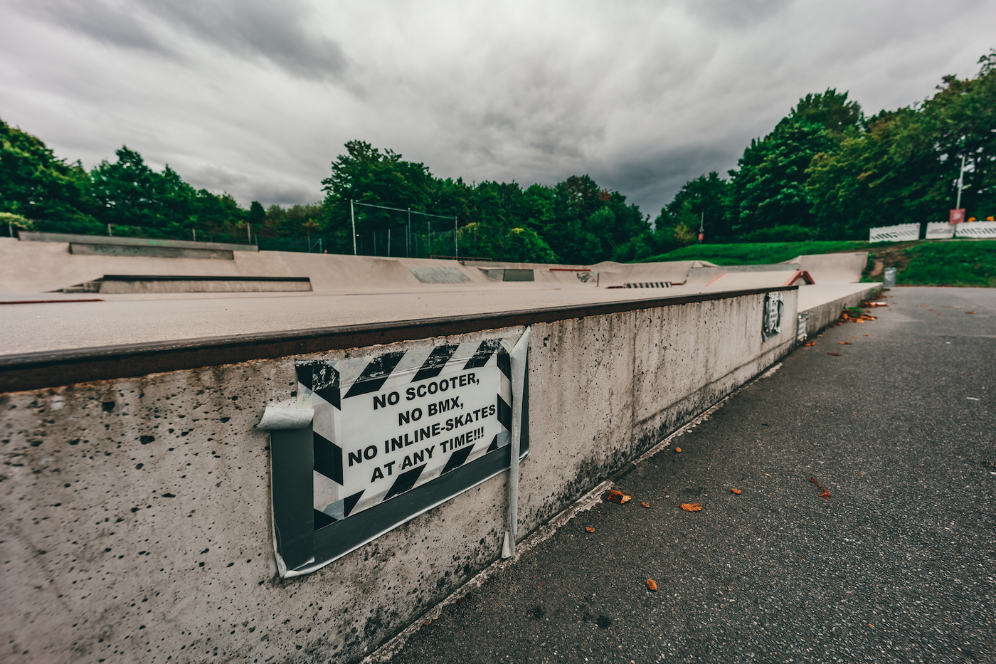
<path fill-rule="evenodd" d="M 871 284 L 800 286 L 799 310 Z M 539 283 L 424 284 L 335 293 L 4 293 L 0 354 L 200 339 L 247 333 L 491 314 L 545 307 L 681 297 L 701 288 L 561 288 Z M 710 291 L 711 292 L 711 291 Z M 94 300 L 101 301 L 81 301 Z M 37 304 L 15 303 L 55 300 Z"/>

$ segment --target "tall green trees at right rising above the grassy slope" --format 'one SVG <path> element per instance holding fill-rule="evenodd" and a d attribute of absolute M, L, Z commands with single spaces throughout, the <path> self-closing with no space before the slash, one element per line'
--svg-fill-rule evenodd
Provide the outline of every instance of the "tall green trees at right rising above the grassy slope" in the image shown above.
<path fill-rule="evenodd" d="M 847 93 L 807 95 L 729 180 L 715 177 L 722 186 L 689 180 L 656 223 L 677 229 L 691 200 L 706 212 L 706 241 L 863 238 L 872 226 L 945 220 L 962 158 L 968 216 L 996 214 L 996 52 L 979 64 L 976 78 L 946 76 L 930 99 L 871 118 Z"/>

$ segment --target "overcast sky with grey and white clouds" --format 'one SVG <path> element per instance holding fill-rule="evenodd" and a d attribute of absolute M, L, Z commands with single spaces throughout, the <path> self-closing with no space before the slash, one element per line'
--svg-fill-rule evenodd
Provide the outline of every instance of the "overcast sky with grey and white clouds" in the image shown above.
<path fill-rule="evenodd" d="M 0 0 L 0 118 L 241 203 L 321 199 L 359 139 L 439 176 L 589 173 L 656 215 L 800 97 L 974 76 L 993 0 Z"/>

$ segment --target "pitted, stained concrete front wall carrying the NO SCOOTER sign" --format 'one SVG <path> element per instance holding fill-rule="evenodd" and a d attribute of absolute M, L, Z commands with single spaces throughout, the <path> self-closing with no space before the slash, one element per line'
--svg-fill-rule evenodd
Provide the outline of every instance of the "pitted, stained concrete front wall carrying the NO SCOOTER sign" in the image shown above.
<path fill-rule="evenodd" d="M 788 353 L 782 292 L 766 342 L 763 293 L 534 323 L 520 536 Z M 293 361 L 0 395 L 0 659 L 356 661 L 498 557 L 505 476 L 281 580 L 252 426 L 293 402 Z"/>

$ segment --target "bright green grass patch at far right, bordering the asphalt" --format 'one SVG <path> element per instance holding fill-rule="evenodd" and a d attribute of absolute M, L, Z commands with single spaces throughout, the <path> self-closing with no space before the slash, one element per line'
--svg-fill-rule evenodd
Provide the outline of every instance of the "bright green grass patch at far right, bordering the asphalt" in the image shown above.
<path fill-rule="evenodd" d="M 898 283 L 996 287 L 996 240 L 928 242 L 905 250 Z"/>

